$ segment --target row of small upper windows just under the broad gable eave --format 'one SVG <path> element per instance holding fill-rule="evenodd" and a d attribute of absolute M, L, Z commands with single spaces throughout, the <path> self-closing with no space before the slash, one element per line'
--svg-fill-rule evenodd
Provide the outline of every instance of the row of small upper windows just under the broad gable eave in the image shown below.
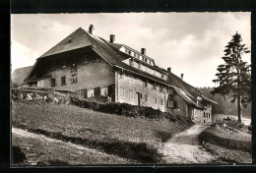
<path fill-rule="evenodd" d="M 82 58 L 82 63 L 83 64 L 89 63 L 90 57 L 92 57 L 92 55 L 91 56 L 84 55 Z M 93 58 L 93 62 L 98 62 L 98 61 L 99 61 L 99 56 L 95 55 Z M 71 66 L 71 69 L 77 66 L 77 62 L 75 59 L 72 59 L 70 66 Z M 66 68 L 67 68 L 67 62 L 66 62 L 66 59 L 63 59 L 62 62 L 60 63 L 60 69 L 66 69 Z M 56 70 L 57 70 L 56 62 L 53 62 L 51 66 L 51 71 L 53 72 Z"/>

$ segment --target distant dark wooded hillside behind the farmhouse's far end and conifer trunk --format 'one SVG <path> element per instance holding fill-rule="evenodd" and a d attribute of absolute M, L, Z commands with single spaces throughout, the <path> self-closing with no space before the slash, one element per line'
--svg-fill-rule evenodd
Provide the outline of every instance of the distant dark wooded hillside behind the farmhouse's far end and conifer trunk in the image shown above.
<path fill-rule="evenodd" d="M 212 100 L 218 102 L 218 104 L 213 104 L 213 114 L 231 114 L 237 115 L 237 102 L 231 102 L 231 98 L 216 95 L 214 96 L 211 91 L 214 87 L 199 87 L 200 90 L 203 91 L 203 94 L 209 97 Z M 242 117 L 251 118 L 251 103 L 246 107 L 242 106 Z"/>

